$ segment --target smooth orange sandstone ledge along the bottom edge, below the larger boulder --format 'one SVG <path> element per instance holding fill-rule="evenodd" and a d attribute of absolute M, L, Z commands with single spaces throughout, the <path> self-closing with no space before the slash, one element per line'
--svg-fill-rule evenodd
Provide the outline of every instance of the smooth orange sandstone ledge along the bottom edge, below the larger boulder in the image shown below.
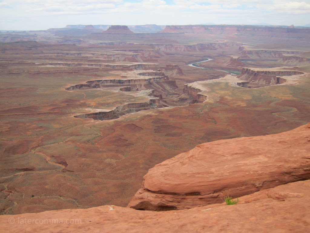
<path fill-rule="evenodd" d="M 166 212 L 117 206 L 53 210 L 2 215 L 0 227 L 1 232 L 12 233 L 310 232 L 309 193 L 310 181 L 306 180 L 241 197 L 236 205 L 222 203 Z"/>

